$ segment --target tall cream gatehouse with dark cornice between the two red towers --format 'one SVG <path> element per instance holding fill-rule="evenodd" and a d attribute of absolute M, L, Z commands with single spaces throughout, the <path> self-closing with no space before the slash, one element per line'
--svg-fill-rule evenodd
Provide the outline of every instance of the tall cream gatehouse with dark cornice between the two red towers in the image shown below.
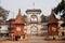
<path fill-rule="evenodd" d="M 27 34 L 40 34 L 41 29 L 41 10 L 40 9 L 28 9 L 26 10 L 27 14 L 27 22 L 26 22 L 26 28 L 27 28 Z"/>

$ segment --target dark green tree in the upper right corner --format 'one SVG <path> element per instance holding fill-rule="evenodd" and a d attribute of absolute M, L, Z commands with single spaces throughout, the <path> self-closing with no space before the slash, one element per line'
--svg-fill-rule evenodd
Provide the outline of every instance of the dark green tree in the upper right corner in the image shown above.
<path fill-rule="evenodd" d="M 54 8 L 55 14 L 62 13 L 61 19 L 65 20 L 65 0 L 62 0 L 61 3 L 57 4 L 56 8 Z"/>

